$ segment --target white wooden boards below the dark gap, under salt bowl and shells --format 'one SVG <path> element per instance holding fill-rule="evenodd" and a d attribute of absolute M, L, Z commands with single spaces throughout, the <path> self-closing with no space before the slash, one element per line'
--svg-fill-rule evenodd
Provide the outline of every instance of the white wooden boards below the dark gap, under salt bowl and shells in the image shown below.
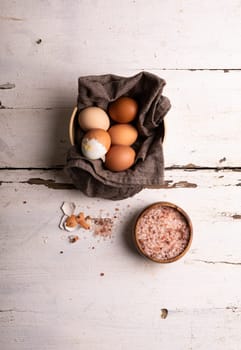
<path fill-rule="evenodd" d="M 237 348 L 240 172 L 172 170 L 169 186 L 186 181 L 196 187 L 148 189 L 116 202 L 27 181 L 68 182 L 61 171 L 0 176 L 1 347 Z M 130 240 L 136 215 L 158 200 L 180 205 L 194 226 L 189 253 L 165 266 L 139 256 Z M 63 201 L 92 217 L 115 216 L 112 239 L 80 231 L 80 240 L 68 243 L 58 228 Z"/>

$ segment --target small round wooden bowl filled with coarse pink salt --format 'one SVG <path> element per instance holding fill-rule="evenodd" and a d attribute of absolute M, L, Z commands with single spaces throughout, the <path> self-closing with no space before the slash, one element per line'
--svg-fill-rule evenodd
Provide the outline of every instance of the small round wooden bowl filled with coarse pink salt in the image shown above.
<path fill-rule="evenodd" d="M 192 236 L 189 216 L 169 202 L 157 202 L 145 208 L 134 227 L 138 251 L 157 263 L 170 263 L 183 257 L 191 246 Z"/>

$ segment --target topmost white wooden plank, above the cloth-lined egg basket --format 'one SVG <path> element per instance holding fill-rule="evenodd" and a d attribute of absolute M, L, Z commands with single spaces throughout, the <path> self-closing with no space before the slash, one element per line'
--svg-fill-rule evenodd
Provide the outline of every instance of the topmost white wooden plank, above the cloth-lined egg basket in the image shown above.
<path fill-rule="evenodd" d="M 199 7 L 175 0 L 125 0 L 123 6 L 111 0 L 37 1 L 36 6 L 4 0 L 3 71 L 14 79 L 24 71 L 27 80 L 38 71 L 43 81 L 63 72 L 241 68 L 240 15 L 238 0 L 228 5 L 205 0 Z"/>

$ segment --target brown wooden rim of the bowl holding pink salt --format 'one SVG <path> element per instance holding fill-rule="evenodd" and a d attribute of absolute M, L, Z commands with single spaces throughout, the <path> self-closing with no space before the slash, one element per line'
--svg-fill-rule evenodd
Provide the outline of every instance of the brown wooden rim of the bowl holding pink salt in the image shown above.
<path fill-rule="evenodd" d="M 138 242 L 137 232 L 136 232 L 137 231 L 137 224 L 138 224 L 139 220 L 142 218 L 142 216 L 144 214 L 146 214 L 148 211 L 150 211 L 151 209 L 153 209 L 155 207 L 160 207 L 160 206 L 161 207 L 170 207 L 170 208 L 173 208 L 173 209 L 177 210 L 185 218 L 185 220 L 186 220 L 186 222 L 188 224 L 188 227 L 189 227 L 189 240 L 188 240 L 188 243 L 187 243 L 186 247 L 184 248 L 184 250 L 179 255 L 177 255 L 175 257 L 172 257 L 172 258 L 169 258 L 169 259 L 165 259 L 165 260 L 158 260 L 158 259 L 151 258 L 150 256 L 146 255 L 144 253 L 144 251 L 142 250 L 139 242 Z M 149 260 L 151 260 L 153 262 L 159 263 L 159 264 L 171 263 L 171 262 L 177 261 L 180 258 L 182 258 L 187 253 L 187 251 L 190 249 L 190 246 L 191 246 L 192 240 L 193 240 L 193 225 L 192 225 L 192 221 L 191 221 L 189 215 L 181 207 L 179 207 L 178 205 L 176 205 L 174 203 L 171 203 L 171 202 L 166 202 L 166 201 L 155 202 L 155 203 L 149 204 L 147 207 L 145 207 L 140 212 L 140 214 L 138 215 L 138 217 L 136 219 L 136 222 L 135 222 L 135 225 L 134 225 L 133 239 L 134 239 L 134 244 L 135 244 L 137 250 L 145 258 L 147 258 L 147 259 L 149 259 Z"/>

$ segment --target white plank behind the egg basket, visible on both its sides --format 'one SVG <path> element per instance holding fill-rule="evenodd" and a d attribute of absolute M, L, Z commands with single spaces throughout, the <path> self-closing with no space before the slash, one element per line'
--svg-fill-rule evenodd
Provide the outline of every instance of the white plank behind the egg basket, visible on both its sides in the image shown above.
<path fill-rule="evenodd" d="M 239 73 L 162 73 L 167 80 L 164 93 L 172 103 L 165 118 L 166 166 L 240 166 Z M 31 95 L 33 100 L 35 92 Z M 69 148 L 72 108 L 67 103 L 66 108 L 0 109 L 1 167 L 63 165 Z"/>

